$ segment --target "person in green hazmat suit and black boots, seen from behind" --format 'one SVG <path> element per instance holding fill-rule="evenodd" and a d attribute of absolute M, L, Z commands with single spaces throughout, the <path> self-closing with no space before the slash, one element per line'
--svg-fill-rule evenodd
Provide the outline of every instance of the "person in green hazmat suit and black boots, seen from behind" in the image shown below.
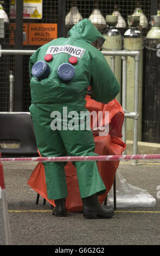
<path fill-rule="evenodd" d="M 67 38 L 58 38 L 41 46 L 29 60 L 29 110 L 42 157 L 97 155 L 94 153 L 93 132 L 86 129 L 86 115 L 81 115 L 87 110 L 87 88 L 91 86 L 95 101 L 105 104 L 115 99 L 120 90 L 103 53 L 98 50 L 105 39 L 92 22 L 84 19 L 76 23 L 68 34 Z M 55 200 L 53 214 L 66 216 L 66 163 L 43 164 L 47 196 Z M 73 164 L 78 176 L 84 218 L 112 217 L 114 210 L 100 205 L 98 200 L 106 187 L 97 162 L 76 161 Z"/>

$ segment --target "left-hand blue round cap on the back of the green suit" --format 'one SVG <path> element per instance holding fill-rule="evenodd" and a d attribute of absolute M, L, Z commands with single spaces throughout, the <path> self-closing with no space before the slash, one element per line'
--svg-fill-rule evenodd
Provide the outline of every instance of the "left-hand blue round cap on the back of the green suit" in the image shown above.
<path fill-rule="evenodd" d="M 39 80 L 42 80 L 44 78 L 47 78 L 50 73 L 50 66 L 46 63 L 40 60 L 39 62 L 36 62 L 31 69 L 31 74 L 35 77 L 37 77 Z"/>

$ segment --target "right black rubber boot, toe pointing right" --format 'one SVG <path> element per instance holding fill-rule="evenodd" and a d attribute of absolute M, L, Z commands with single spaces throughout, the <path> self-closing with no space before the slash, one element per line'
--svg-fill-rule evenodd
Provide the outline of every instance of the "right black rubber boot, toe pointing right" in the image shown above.
<path fill-rule="evenodd" d="M 111 218 L 114 210 L 100 205 L 97 194 L 82 198 L 84 218 Z"/>

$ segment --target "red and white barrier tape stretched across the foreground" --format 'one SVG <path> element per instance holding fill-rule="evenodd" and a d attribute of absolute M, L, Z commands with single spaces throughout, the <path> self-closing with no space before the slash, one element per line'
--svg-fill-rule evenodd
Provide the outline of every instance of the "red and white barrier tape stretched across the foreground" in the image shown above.
<path fill-rule="evenodd" d="M 109 156 L 56 156 L 56 157 L 15 157 L 1 158 L 0 162 L 75 162 L 75 161 L 120 161 L 160 159 L 160 154 L 153 155 L 109 155 Z"/>

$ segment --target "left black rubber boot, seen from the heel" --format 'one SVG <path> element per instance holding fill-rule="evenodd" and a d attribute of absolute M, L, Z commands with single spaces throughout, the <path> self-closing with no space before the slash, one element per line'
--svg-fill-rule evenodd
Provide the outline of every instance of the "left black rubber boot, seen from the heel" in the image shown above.
<path fill-rule="evenodd" d="M 62 199 L 55 199 L 55 207 L 52 210 L 52 215 L 55 215 L 57 217 L 66 217 L 67 211 L 66 211 L 66 198 Z"/>

